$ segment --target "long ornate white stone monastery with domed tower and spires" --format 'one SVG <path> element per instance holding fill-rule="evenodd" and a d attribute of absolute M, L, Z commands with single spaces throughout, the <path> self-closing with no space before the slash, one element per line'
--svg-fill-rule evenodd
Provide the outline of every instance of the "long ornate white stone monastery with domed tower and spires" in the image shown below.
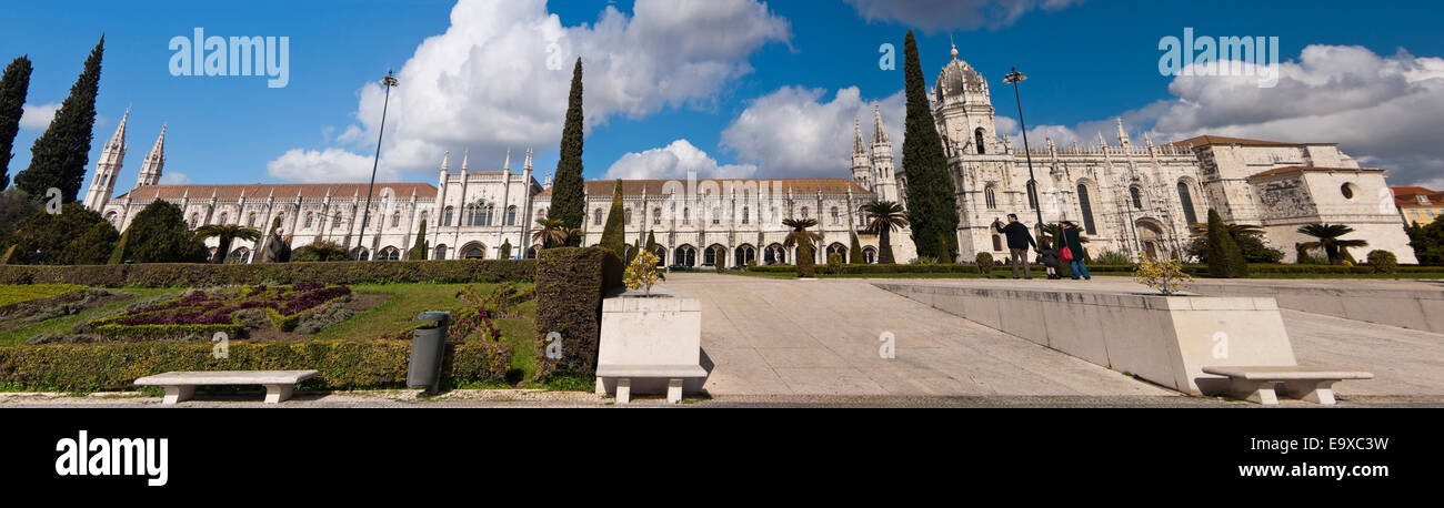
<path fill-rule="evenodd" d="M 1119 120 L 1115 144 L 1102 136 L 1092 147 L 1058 147 L 1044 139 L 1043 146 L 1024 153 L 998 136 L 988 81 L 957 59 L 956 48 L 952 56 L 937 76 L 931 107 L 956 189 L 957 261 L 972 261 L 978 253 L 1005 258 L 993 219 L 1017 214 L 1037 228 L 1035 211 L 1044 222 L 1077 222 L 1092 238 L 1093 254 L 1170 255 L 1186 247 L 1188 224 L 1206 221 L 1213 208 L 1227 222 L 1262 225 L 1268 242 L 1284 251 L 1287 261 L 1295 258 L 1295 242 L 1310 241 L 1294 232 L 1300 225 L 1333 222 L 1353 227 L 1350 238 L 1367 240 L 1366 251 L 1388 250 L 1401 263 L 1415 263 L 1385 172 L 1359 167 L 1333 143 L 1200 136 L 1155 146 L 1145 134 L 1144 146 L 1135 146 Z M 321 240 L 357 244 L 364 183 L 157 185 L 165 127 L 136 188 L 110 198 L 126 154 L 126 118 L 105 143 L 85 196 L 85 205 L 117 228 L 127 227 L 152 201 L 166 199 L 185 211 L 192 227 L 266 228 L 282 218 L 293 237 L 292 248 Z M 1030 183 L 1030 159 L 1037 183 Z M 520 173 L 510 166 L 508 153 L 498 170 L 472 170 L 464 154 L 461 170 L 452 172 L 448 153 L 436 186 L 377 183 L 362 255 L 404 258 L 422 221 L 427 221 L 429 258 L 497 258 L 503 244 L 511 245 L 513 257 L 536 255 L 529 229 L 547 215 L 550 179 L 543 185 L 533 178 L 530 150 Z M 663 264 L 794 263 L 796 251 L 783 248 L 788 228 L 781 221 L 814 218 L 814 231 L 823 237 L 816 261 L 826 263 L 829 253 L 846 258 L 851 235 L 866 221 L 864 205 L 895 201 L 907 206 L 907 169 L 894 163 L 892 141 L 877 108 L 871 141 L 865 141 L 861 124 L 853 126 L 851 179 L 842 167 L 838 173 L 835 179 L 624 180 L 625 241 L 644 242 L 653 234 Z M 601 241 L 614 185 L 585 185 L 586 245 Z M 917 255 L 910 231 L 891 238 L 897 260 Z M 859 234 L 859 241 L 864 258 L 848 261 L 875 261 L 878 237 Z M 237 242 L 230 255 L 247 261 L 256 247 Z"/>

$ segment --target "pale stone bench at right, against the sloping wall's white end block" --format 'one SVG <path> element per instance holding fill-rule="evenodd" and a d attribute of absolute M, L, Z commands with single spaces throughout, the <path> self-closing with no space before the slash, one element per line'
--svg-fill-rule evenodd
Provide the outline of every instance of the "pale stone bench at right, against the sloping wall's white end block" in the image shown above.
<path fill-rule="evenodd" d="M 1373 374 L 1324 367 L 1204 367 L 1204 372 L 1229 378 L 1229 393 L 1259 404 L 1278 404 L 1276 385 L 1289 397 L 1334 404 L 1334 382 L 1373 380 Z"/>

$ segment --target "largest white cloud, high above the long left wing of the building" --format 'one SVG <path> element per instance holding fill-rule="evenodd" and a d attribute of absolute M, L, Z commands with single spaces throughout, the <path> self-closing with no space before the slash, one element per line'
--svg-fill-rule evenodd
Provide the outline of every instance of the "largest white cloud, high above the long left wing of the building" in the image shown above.
<path fill-rule="evenodd" d="M 383 166 L 429 175 L 442 152 L 471 149 L 472 167 L 495 169 L 508 147 L 554 150 L 578 56 L 589 130 L 617 115 L 712 107 L 752 72 L 752 52 L 791 38 L 786 19 L 752 0 L 638 0 L 632 12 L 608 6 L 595 23 L 567 27 L 543 0 L 459 1 L 446 32 L 423 40 L 397 72 Z M 374 147 L 383 94 L 377 84 L 360 89 L 357 123 L 335 137 L 339 149 Z"/>

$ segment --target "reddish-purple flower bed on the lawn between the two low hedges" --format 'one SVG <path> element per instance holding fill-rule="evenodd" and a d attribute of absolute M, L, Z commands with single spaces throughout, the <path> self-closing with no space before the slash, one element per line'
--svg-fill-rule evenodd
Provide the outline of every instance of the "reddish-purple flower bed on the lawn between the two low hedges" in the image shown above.
<path fill-rule="evenodd" d="M 293 286 L 245 286 L 240 290 L 193 292 L 90 325 L 100 335 L 129 339 L 168 339 L 191 333 L 238 335 L 235 313 L 263 309 L 277 329 L 290 330 L 308 313 L 351 296 L 347 286 L 297 283 Z"/>

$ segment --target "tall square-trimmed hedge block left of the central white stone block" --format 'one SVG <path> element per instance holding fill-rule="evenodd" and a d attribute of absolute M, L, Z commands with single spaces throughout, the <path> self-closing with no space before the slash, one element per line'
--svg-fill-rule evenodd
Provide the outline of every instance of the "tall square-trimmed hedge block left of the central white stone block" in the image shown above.
<path fill-rule="evenodd" d="M 537 372 L 596 372 L 602 297 L 622 287 L 622 260 L 601 247 L 547 248 L 537 255 Z M 562 358 L 546 356 L 546 335 L 562 333 Z"/>

